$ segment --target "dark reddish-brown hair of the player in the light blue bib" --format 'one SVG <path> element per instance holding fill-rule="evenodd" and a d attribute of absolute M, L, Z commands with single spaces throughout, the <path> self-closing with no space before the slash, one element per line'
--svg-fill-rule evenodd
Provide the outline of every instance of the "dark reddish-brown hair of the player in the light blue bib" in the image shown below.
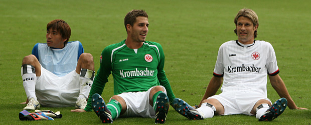
<path fill-rule="evenodd" d="M 64 44 L 68 42 L 71 35 L 71 29 L 67 22 L 62 19 L 54 19 L 47 24 L 47 30 L 49 30 L 50 28 L 59 32 L 62 38 L 67 38 Z"/>

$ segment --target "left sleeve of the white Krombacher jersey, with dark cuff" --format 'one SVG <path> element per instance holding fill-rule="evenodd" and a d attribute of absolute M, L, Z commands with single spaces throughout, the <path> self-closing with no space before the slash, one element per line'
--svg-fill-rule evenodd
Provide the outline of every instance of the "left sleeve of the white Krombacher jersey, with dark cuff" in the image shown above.
<path fill-rule="evenodd" d="M 223 59 L 223 48 L 224 45 L 221 45 L 218 50 L 217 60 L 214 68 L 213 75 L 216 77 L 223 77 L 224 76 L 224 59 Z"/>

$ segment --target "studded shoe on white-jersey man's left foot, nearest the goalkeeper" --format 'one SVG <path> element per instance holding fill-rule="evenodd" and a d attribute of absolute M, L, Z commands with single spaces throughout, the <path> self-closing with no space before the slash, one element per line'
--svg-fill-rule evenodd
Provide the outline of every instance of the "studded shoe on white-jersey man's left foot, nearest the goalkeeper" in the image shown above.
<path fill-rule="evenodd" d="M 192 108 L 192 106 L 190 106 L 186 101 L 180 98 L 175 98 L 173 100 L 173 107 L 175 108 L 177 112 L 179 112 L 180 114 L 182 114 L 183 116 L 189 119 L 193 119 L 193 120 L 203 119 L 203 117 L 199 114 L 199 112 L 198 113 L 192 112 L 190 109 Z M 193 108 L 192 110 L 195 110 L 195 109 Z"/>

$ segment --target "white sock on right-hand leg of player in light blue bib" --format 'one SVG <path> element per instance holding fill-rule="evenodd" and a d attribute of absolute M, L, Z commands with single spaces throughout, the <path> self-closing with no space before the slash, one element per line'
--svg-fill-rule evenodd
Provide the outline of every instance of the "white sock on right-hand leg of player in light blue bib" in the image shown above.
<path fill-rule="evenodd" d="M 89 92 L 91 90 L 91 86 L 93 84 L 94 73 L 95 73 L 95 71 L 90 70 L 90 69 L 86 69 L 86 68 L 81 69 L 81 73 L 80 73 L 80 77 L 79 77 L 79 79 L 80 79 L 80 93 L 79 93 L 78 100 L 81 97 L 85 97 L 85 98 L 88 97 Z"/>

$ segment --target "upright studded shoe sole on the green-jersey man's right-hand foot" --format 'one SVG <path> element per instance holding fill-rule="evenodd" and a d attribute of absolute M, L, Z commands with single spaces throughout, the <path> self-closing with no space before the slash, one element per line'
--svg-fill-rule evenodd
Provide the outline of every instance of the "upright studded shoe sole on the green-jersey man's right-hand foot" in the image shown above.
<path fill-rule="evenodd" d="M 155 123 L 165 123 L 170 108 L 169 97 L 166 93 L 160 93 L 156 100 L 156 120 Z"/>

